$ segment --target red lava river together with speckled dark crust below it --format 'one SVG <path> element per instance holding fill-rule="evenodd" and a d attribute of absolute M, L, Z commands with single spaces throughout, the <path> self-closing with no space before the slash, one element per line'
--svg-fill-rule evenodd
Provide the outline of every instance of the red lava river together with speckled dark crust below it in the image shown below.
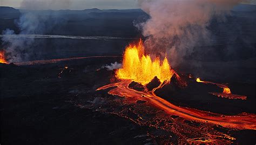
<path fill-rule="evenodd" d="M 98 88 L 97 91 L 112 88 L 108 92 L 109 94 L 125 96 L 122 100 L 109 100 L 108 103 L 113 105 L 113 110 L 110 113 L 127 118 L 140 126 L 153 127 L 172 134 L 170 136 L 173 137 L 164 139 L 162 143 L 231 144 L 235 141 L 235 137 L 228 134 L 229 131 L 220 132 L 213 128 L 223 128 L 222 130 L 256 129 L 255 114 L 242 113 L 229 116 L 179 107 L 154 94 L 156 89 L 137 91 L 136 88 L 129 87 L 131 82 L 130 80 L 114 82 Z M 140 86 L 140 88 L 142 87 Z M 144 100 L 144 102 L 136 103 L 137 100 L 140 102 Z M 121 109 L 117 107 L 119 105 L 122 106 Z M 105 112 L 103 108 L 101 111 Z M 114 108 L 119 109 L 117 111 Z M 174 138 L 177 139 L 177 142 Z"/>

